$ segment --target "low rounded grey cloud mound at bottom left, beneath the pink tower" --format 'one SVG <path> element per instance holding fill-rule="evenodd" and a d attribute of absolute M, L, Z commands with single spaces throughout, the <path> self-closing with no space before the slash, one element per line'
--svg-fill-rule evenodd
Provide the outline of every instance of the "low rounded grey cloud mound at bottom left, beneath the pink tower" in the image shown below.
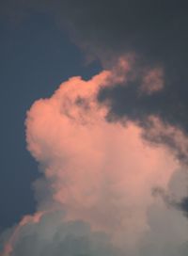
<path fill-rule="evenodd" d="M 42 216 L 17 233 L 11 256 L 121 255 L 105 233 L 92 232 L 83 221 L 65 221 L 62 211 Z"/>

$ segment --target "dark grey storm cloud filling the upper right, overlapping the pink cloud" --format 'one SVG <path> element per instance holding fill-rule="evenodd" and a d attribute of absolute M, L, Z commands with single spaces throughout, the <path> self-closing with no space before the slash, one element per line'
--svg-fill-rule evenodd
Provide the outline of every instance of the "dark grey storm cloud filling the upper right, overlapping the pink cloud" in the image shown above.
<path fill-rule="evenodd" d="M 5 2 L 6 3 L 6 2 Z M 100 102 L 110 100 L 109 116 L 142 120 L 149 114 L 178 125 L 188 132 L 188 17 L 186 1 L 11 1 L 13 8 L 47 11 L 68 29 L 71 38 L 88 55 L 105 66 L 114 57 L 136 56 L 137 66 L 164 69 L 164 90 L 155 95 L 138 95 L 133 88 L 102 89 Z M 17 3 L 16 5 L 14 5 Z M 2 4 L 3 5 L 3 4 Z M 8 7 L 9 6 L 9 7 Z M 11 11 L 10 11 L 11 9 Z M 8 11 L 9 10 L 9 11 Z M 19 13 L 18 11 L 16 13 Z M 12 14 L 13 15 L 13 14 Z"/>

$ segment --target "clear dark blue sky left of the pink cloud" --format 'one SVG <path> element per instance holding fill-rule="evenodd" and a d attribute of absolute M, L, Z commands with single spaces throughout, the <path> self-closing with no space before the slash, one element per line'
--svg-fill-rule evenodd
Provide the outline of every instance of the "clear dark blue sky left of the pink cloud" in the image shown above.
<path fill-rule="evenodd" d="M 26 151 L 25 112 L 73 75 L 99 72 L 50 16 L 33 13 L 23 21 L 0 21 L 0 228 L 35 210 L 31 184 L 38 164 Z"/>

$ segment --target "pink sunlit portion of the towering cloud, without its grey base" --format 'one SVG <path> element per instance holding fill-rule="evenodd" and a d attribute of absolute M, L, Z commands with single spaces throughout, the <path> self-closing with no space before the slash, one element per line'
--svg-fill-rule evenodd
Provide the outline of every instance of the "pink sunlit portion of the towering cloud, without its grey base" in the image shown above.
<path fill-rule="evenodd" d="M 135 123 L 130 121 L 123 126 L 105 120 L 108 109 L 98 104 L 98 91 L 116 82 L 125 84 L 130 69 L 129 62 L 121 59 L 112 71 L 103 71 L 88 81 L 72 77 L 51 98 L 36 101 L 27 112 L 27 148 L 42 166 L 48 181 L 46 189 L 53 195 L 48 198 L 47 193 L 39 201 L 42 214 L 25 216 L 18 224 L 3 256 L 14 251 L 22 226 L 30 233 L 29 223 L 37 223 L 39 237 L 46 236 L 38 222 L 41 216 L 45 222 L 46 213 L 55 210 L 55 203 L 62 213 L 66 212 L 64 219 L 57 218 L 55 229 L 65 221 L 82 220 L 92 232 L 107 233 L 112 244 L 125 253 L 137 255 L 143 237 L 152 229 L 152 188 L 167 189 L 180 162 L 163 145 L 147 143 L 143 130 Z M 157 80 L 154 73 L 149 75 Z M 163 122 L 155 117 L 154 121 L 149 136 L 163 130 Z M 166 133 L 173 129 L 169 126 Z M 176 130 L 175 136 L 177 143 L 183 144 L 180 132 Z M 45 200 L 48 204 L 42 209 Z M 47 227 L 54 224 L 49 219 Z M 54 239 L 51 232 L 48 236 Z"/>

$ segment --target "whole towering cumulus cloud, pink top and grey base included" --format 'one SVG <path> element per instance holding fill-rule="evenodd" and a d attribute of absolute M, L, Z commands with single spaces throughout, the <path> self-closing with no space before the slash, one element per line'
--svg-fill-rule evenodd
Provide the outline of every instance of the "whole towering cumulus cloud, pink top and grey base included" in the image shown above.
<path fill-rule="evenodd" d="M 186 217 L 151 194 L 153 187 L 168 190 L 176 180 L 176 153 L 146 143 L 136 121 L 106 121 L 109 105 L 98 101 L 101 89 L 117 83 L 124 88 L 131 70 L 130 59 L 121 58 L 112 70 L 88 81 L 72 77 L 31 106 L 27 148 L 43 174 L 35 184 L 38 211 L 2 234 L 2 256 L 171 255 L 186 243 Z M 150 135 L 164 125 L 156 123 Z M 179 135 L 175 130 L 183 147 Z"/>

